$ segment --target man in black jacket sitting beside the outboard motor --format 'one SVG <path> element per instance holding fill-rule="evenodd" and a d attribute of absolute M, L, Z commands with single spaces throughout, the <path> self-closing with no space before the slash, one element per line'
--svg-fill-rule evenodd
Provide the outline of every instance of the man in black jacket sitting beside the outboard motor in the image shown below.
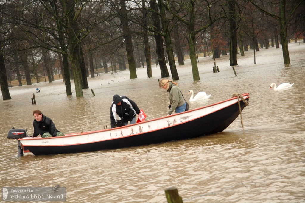
<path fill-rule="evenodd" d="M 37 137 L 39 134 L 41 137 L 58 137 L 65 135 L 59 132 L 59 130 L 56 129 L 53 121 L 49 117 L 43 115 L 38 109 L 33 111 L 33 116 L 35 118 L 33 121 L 33 137 Z"/>

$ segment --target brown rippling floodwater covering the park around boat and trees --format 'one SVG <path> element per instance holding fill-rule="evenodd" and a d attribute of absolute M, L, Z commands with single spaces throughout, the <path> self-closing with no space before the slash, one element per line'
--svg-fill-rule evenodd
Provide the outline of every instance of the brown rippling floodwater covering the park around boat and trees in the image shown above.
<path fill-rule="evenodd" d="M 17 141 L 7 139 L 10 128 L 33 133 L 32 111 L 40 109 L 63 133 L 109 128 L 114 94 L 126 95 L 148 119 L 167 115 L 168 94 L 158 87 L 160 69 L 153 77 L 139 68 L 88 78 L 84 97 L 66 96 L 62 81 L 9 88 L 11 100 L 0 97 L 1 187 L 66 187 L 66 202 L 167 202 L 164 190 L 174 186 L 183 202 L 305 202 L 305 45 L 290 43 L 291 65 L 283 65 L 281 48 L 261 49 L 238 56 L 237 76 L 229 56 L 199 59 L 199 81 L 193 81 L 189 60 L 178 66 L 184 97 L 206 91 L 208 100 L 190 108 L 250 94 L 249 106 L 218 134 L 135 148 L 77 154 L 17 157 Z M 273 91 L 271 83 L 294 83 Z M 35 89 L 39 87 L 40 93 Z M 91 88 L 95 97 L 91 93 Z M 74 84 L 72 83 L 74 90 Z M 31 104 L 35 93 L 36 105 Z"/>

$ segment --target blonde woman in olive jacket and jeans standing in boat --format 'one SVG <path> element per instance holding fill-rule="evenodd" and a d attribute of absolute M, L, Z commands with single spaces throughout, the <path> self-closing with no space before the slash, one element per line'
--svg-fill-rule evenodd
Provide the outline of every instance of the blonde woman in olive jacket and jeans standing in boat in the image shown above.
<path fill-rule="evenodd" d="M 167 79 L 161 79 L 159 81 L 159 87 L 166 89 L 170 98 L 170 105 L 168 106 L 170 109 L 168 109 L 167 115 L 171 115 L 174 111 L 176 113 L 185 111 L 186 103 L 177 83 Z"/>

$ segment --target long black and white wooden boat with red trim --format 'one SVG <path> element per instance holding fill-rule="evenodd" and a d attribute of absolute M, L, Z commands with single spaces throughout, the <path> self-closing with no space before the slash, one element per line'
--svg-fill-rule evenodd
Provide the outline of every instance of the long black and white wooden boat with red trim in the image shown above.
<path fill-rule="evenodd" d="M 239 95 L 241 98 L 235 96 L 187 112 L 128 126 L 61 137 L 21 137 L 18 141 L 21 148 L 34 155 L 48 155 L 134 147 L 214 134 L 226 129 L 247 105 L 249 94 Z M 18 136 L 8 135 L 8 138 L 17 139 Z"/>

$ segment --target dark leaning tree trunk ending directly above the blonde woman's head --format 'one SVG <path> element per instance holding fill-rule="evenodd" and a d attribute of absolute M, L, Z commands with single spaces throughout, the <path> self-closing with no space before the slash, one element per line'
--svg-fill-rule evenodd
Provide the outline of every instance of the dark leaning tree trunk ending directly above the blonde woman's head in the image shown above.
<path fill-rule="evenodd" d="M 157 11 L 157 3 L 156 0 L 150 0 L 149 5 L 151 9 Z M 153 26 L 155 29 L 154 36 L 156 39 L 156 54 L 158 57 L 158 63 L 160 65 L 161 77 L 169 77 L 170 74 L 168 73 L 168 69 L 166 66 L 165 55 L 164 55 L 164 48 L 163 48 L 163 38 L 161 36 L 161 28 L 160 28 L 160 18 L 158 14 L 152 12 L 152 20 Z"/>

